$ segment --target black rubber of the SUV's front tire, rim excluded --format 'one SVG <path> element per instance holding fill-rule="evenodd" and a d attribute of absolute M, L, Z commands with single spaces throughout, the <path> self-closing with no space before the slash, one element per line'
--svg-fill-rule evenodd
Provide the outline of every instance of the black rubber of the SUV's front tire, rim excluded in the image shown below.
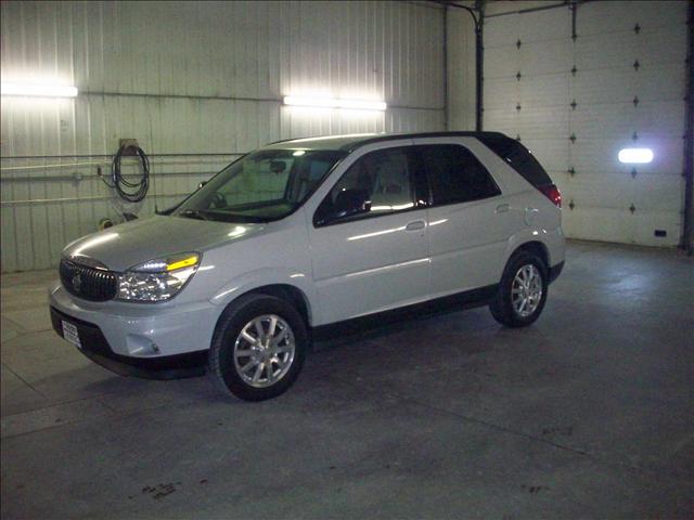
<path fill-rule="evenodd" d="M 257 388 L 246 382 L 234 362 L 234 344 L 244 327 L 253 320 L 264 315 L 277 315 L 291 327 L 294 336 L 294 358 L 288 370 L 275 382 L 264 388 Z M 296 380 L 304 365 L 308 344 L 308 333 L 301 315 L 287 301 L 274 296 L 250 294 L 233 301 L 224 310 L 209 349 L 209 375 L 220 391 L 227 395 L 233 394 L 244 401 L 264 401 L 284 393 Z M 270 362 L 272 370 L 272 362 Z M 278 366 L 278 368 L 280 368 Z M 266 381 L 268 373 L 266 374 Z"/>

